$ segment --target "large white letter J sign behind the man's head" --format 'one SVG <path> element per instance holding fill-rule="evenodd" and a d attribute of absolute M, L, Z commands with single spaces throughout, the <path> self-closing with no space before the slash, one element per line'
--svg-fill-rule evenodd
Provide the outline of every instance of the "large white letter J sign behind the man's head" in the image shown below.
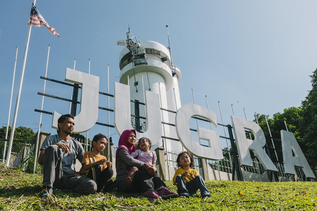
<path fill-rule="evenodd" d="M 81 84 L 80 112 L 74 117 L 73 133 L 82 133 L 94 126 L 98 119 L 99 77 L 66 68 L 65 81 Z M 57 128 L 61 114 L 54 111 L 52 127 Z"/>

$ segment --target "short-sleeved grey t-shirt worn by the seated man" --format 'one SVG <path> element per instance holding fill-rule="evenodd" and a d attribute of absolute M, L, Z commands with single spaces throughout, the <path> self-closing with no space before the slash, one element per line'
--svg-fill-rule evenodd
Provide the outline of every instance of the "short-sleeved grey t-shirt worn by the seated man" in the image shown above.
<path fill-rule="evenodd" d="M 82 161 L 84 155 L 84 148 L 81 146 L 79 141 L 75 140 L 74 138 L 70 137 L 68 142 L 63 141 L 59 138 L 58 134 L 51 135 L 45 138 L 41 149 L 46 149 L 47 147 L 54 145 L 56 143 L 63 143 L 69 146 L 70 150 L 65 154 L 61 149 L 61 166 L 64 175 L 72 175 L 74 174 L 76 159 L 79 162 Z"/>

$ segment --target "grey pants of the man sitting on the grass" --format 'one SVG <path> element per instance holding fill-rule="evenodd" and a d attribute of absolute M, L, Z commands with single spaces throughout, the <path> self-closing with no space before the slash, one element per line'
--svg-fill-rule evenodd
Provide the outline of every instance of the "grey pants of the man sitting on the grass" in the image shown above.
<path fill-rule="evenodd" d="M 51 145 L 45 149 L 43 160 L 43 186 L 85 194 L 94 194 L 97 190 L 97 184 L 92 179 L 78 175 L 63 175 L 61 150 L 57 145 Z"/>

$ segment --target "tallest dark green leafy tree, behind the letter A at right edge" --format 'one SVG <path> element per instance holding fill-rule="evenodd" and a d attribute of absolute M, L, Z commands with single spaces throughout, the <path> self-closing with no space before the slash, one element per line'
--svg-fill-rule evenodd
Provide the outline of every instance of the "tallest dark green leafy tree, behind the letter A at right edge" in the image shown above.
<path fill-rule="evenodd" d="M 301 147 L 310 166 L 317 168 L 317 68 L 310 77 L 312 89 L 301 102 Z"/>

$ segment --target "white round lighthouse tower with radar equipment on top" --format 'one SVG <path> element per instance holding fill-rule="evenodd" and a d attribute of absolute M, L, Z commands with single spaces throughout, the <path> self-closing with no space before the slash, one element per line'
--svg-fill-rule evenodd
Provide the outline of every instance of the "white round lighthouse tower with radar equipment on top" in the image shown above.
<path fill-rule="evenodd" d="M 130 32 L 126 40 L 119 40 L 118 45 L 126 46 L 120 53 L 120 83 L 130 86 L 130 99 L 136 103 L 131 104 L 131 124 L 138 132 L 146 131 L 145 119 L 145 92 L 150 91 L 159 95 L 161 108 L 162 136 L 165 149 L 168 151 L 181 151 L 180 142 L 176 134 L 175 113 L 181 107 L 178 82 L 181 73 L 178 67 L 172 66 L 171 54 L 162 44 L 154 41 L 139 41 Z M 134 105 L 134 106 L 133 106 Z M 137 116 L 140 116 L 138 118 Z M 140 137 L 139 137 L 140 138 Z M 151 137 L 147 137 L 151 139 Z M 163 142 L 153 146 L 162 146 Z"/>

